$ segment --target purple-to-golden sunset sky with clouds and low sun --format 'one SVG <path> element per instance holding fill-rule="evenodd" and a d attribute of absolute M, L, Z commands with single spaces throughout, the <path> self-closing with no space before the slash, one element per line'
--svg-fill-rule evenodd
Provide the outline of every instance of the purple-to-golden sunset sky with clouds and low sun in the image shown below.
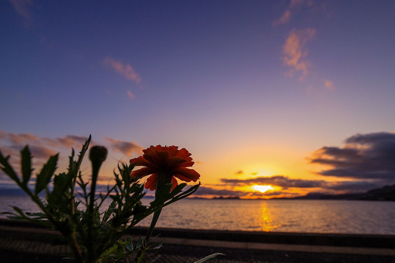
<path fill-rule="evenodd" d="M 36 172 L 60 152 L 60 173 L 92 134 L 109 149 L 102 184 L 150 145 L 189 150 L 203 197 L 395 183 L 395 1 L 9 0 L 0 10 L 0 150 L 16 169 L 28 144 Z"/>

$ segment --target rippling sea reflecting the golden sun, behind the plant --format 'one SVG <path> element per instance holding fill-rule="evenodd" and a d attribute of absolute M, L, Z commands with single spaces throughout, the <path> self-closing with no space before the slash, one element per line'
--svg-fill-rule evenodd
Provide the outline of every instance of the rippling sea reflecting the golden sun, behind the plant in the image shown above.
<path fill-rule="evenodd" d="M 39 211 L 28 197 L 0 196 L 1 212 L 12 211 L 11 205 Z M 139 223 L 149 224 L 150 218 Z M 395 235 L 395 202 L 183 199 L 162 210 L 157 227 Z"/>

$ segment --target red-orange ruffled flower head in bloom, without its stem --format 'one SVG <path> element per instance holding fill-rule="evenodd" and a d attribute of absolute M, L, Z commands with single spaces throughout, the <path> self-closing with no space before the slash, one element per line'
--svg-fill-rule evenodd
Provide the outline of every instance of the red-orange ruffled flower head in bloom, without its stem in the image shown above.
<path fill-rule="evenodd" d="M 133 177 L 148 177 L 145 183 L 145 188 L 149 190 L 155 190 L 158 183 L 158 176 L 163 174 L 171 176 L 171 183 L 173 184 L 171 190 L 173 190 L 177 185 L 177 178 L 182 181 L 196 182 L 200 175 L 193 169 L 188 169 L 186 167 L 191 167 L 194 165 L 192 162 L 191 154 L 185 148 L 178 150 L 178 146 L 151 146 L 143 150 L 143 156 L 134 158 L 130 160 L 130 163 L 135 166 L 145 166 L 136 171 L 132 171 L 130 176 Z"/>

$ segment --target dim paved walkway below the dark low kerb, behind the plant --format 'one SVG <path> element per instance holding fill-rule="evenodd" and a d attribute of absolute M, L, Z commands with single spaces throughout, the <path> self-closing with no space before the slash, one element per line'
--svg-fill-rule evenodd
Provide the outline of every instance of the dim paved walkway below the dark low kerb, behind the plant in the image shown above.
<path fill-rule="evenodd" d="M 137 239 L 137 237 L 133 237 Z M 71 256 L 56 244 L 58 232 L 36 227 L 0 225 L 0 258 L 3 262 L 66 262 Z M 59 243 L 59 242 L 58 242 Z M 395 262 L 395 248 L 367 248 L 306 244 L 273 244 L 169 237 L 149 262 L 191 262 L 216 252 L 226 254 L 210 262 Z"/>

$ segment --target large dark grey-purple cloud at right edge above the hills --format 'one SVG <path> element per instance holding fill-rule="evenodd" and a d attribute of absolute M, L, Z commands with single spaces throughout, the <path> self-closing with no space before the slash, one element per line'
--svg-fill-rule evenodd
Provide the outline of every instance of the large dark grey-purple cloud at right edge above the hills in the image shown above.
<path fill-rule="evenodd" d="M 322 147 L 308 158 L 311 163 L 329 166 L 318 174 L 325 176 L 395 182 L 395 134 L 357 134 L 345 140 L 344 147 Z"/>

